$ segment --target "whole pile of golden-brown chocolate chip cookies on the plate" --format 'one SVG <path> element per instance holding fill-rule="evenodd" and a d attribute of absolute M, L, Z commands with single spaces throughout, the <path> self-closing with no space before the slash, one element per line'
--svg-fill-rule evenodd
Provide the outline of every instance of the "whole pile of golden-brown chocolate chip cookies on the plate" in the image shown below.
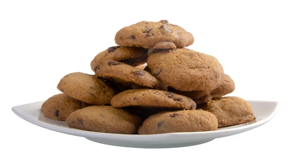
<path fill-rule="evenodd" d="M 182 27 L 141 21 L 115 42 L 91 62 L 95 75 L 60 80 L 63 93 L 43 103 L 45 117 L 120 134 L 211 131 L 255 119 L 248 102 L 222 97 L 234 91 L 233 80 L 215 57 L 184 48 L 194 37 Z"/>

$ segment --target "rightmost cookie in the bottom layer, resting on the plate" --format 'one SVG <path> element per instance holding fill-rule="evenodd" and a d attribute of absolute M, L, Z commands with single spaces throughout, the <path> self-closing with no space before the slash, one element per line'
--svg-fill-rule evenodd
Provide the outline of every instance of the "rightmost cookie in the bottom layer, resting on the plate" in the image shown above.
<path fill-rule="evenodd" d="M 222 97 L 207 102 L 203 109 L 217 117 L 219 127 L 255 120 L 250 104 L 239 97 Z"/>

